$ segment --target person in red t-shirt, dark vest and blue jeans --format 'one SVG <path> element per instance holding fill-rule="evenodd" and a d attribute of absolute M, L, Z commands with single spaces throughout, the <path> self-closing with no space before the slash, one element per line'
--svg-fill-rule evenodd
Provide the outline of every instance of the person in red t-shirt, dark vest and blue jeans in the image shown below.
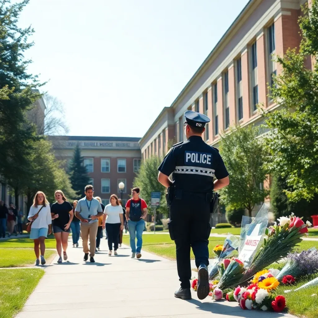
<path fill-rule="evenodd" d="M 140 189 L 134 188 L 131 190 L 132 198 L 126 203 L 126 218 L 128 220 L 131 258 L 141 258 L 142 248 L 142 232 L 145 228 L 145 218 L 148 213 L 145 200 L 139 197 Z M 137 237 L 137 248 L 136 248 Z"/>

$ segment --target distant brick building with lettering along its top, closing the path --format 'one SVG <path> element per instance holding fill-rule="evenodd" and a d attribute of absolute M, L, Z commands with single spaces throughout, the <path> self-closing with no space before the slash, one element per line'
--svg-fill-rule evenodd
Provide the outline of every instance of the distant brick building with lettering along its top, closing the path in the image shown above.
<path fill-rule="evenodd" d="M 123 203 L 130 198 L 130 190 L 141 163 L 141 151 L 135 137 L 50 136 L 57 159 L 70 161 L 79 144 L 84 165 L 94 186 L 94 196 L 109 203 L 111 194 L 120 197 L 118 184 L 123 182 Z"/>

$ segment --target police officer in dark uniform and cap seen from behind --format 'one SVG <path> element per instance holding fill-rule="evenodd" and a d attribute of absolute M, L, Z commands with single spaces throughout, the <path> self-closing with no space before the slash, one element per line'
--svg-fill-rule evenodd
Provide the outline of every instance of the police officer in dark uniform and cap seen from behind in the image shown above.
<path fill-rule="evenodd" d="M 173 192 L 169 233 L 176 244 L 176 260 L 181 288 L 175 297 L 191 299 L 190 247 L 198 268 L 197 296 L 209 294 L 209 236 L 212 190 L 229 184 L 229 174 L 218 149 L 207 145 L 201 135 L 210 119 L 200 113 L 184 113 L 187 141 L 172 146 L 158 168 L 158 181 Z M 172 181 L 169 179 L 172 173 Z M 213 183 L 214 178 L 216 180 Z M 172 191 L 173 190 L 173 191 Z"/>

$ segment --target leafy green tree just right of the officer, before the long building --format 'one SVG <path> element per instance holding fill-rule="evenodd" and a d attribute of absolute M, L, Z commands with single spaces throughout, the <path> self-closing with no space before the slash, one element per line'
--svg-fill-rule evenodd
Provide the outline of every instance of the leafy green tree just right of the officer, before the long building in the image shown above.
<path fill-rule="evenodd" d="M 257 127 L 232 127 L 221 137 L 219 147 L 230 175 L 230 184 L 220 191 L 221 202 L 227 210 L 247 209 L 249 216 L 255 204 L 268 195 L 262 186 L 266 180 L 265 150 L 258 135 Z"/>

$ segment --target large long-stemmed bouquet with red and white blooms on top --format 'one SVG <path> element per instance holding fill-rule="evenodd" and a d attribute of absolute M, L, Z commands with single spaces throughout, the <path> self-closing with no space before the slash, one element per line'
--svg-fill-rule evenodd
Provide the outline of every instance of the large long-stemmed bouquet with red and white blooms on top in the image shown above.
<path fill-rule="evenodd" d="M 248 281 L 255 273 L 287 256 L 288 252 L 302 241 L 301 237 L 308 235 L 308 226 L 302 218 L 291 215 L 289 218 L 278 219 L 279 225 L 270 226 L 267 239 L 256 252 L 251 266 L 244 273 L 240 284 Z"/>

